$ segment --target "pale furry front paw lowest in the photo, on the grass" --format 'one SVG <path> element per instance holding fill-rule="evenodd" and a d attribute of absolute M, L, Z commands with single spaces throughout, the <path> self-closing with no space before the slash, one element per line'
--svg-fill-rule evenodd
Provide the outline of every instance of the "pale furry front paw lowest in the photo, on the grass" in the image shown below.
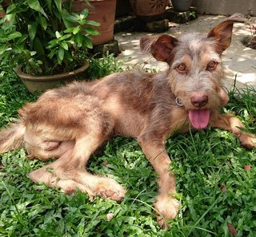
<path fill-rule="evenodd" d="M 157 216 L 157 220 L 162 229 L 168 228 L 166 221 L 168 219 L 174 219 L 178 213 L 179 203 L 178 200 L 171 196 L 158 196 L 154 207 L 160 215 Z"/>

